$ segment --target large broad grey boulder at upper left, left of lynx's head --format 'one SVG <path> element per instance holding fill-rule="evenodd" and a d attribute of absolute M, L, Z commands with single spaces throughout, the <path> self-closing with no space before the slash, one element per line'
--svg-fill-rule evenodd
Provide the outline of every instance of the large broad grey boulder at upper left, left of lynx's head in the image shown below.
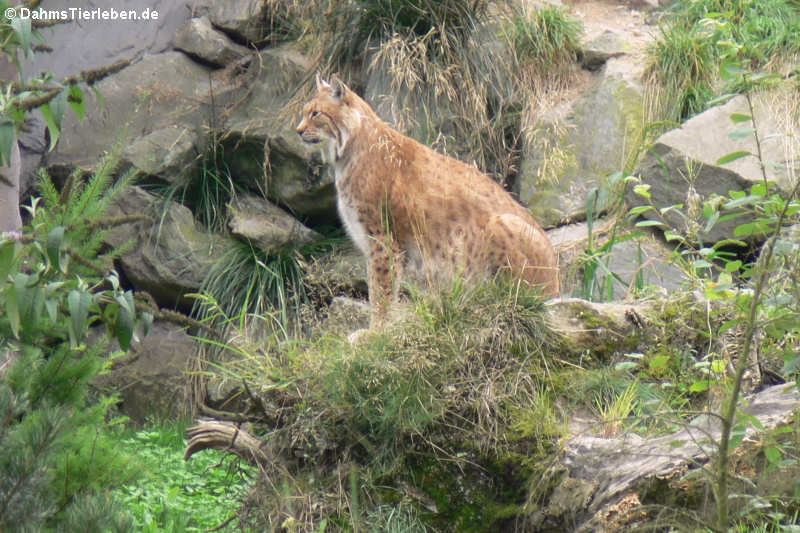
<path fill-rule="evenodd" d="M 66 114 L 61 139 L 46 157 L 48 166 L 55 171 L 91 167 L 115 141 L 145 137 L 175 124 L 190 132 L 187 140 L 204 143 L 206 126 L 219 112 L 210 107 L 209 91 L 215 105 L 223 106 L 227 91 L 233 89 L 219 83 L 209 87 L 209 73 L 208 67 L 181 52 L 165 52 L 100 81 L 96 87 L 103 104 L 89 91 L 84 120 Z"/>

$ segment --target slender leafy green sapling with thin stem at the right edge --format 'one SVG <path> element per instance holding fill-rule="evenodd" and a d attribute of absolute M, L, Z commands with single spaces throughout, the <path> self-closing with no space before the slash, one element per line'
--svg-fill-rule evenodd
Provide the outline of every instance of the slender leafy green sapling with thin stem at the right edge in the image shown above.
<path fill-rule="evenodd" d="M 726 3 L 728 4 L 728 3 Z M 772 6 L 774 2 L 731 2 L 745 5 L 748 8 Z M 696 3 L 690 3 L 690 7 Z M 711 13 L 706 13 L 711 17 Z M 718 17 L 718 14 L 713 14 Z M 731 16 L 728 13 L 727 16 Z M 778 16 L 778 15 L 775 15 Z M 746 24 L 745 22 L 742 22 Z M 737 48 L 738 49 L 738 48 Z M 730 457 L 744 437 L 745 429 L 752 426 L 763 432 L 763 427 L 755 417 L 740 410 L 742 383 L 750 364 L 749 355 L 759 344 L 760 357 L 770 357 L 770 351 L 777 351 L 786 361 L 785 378 L 797 376 L 798 339 L 800 338 L 800 307 L 797 298 L 797 272 L 800 256 L 794 245 L 787 245 L 782 238 L 787 226 L 800 222 L 800 180 L 790 184 L 791 190 L 779 191 L 770 181 L 768 169 L 770 162 L 764 160 L 761 146 L 764 132 L 756 127 L 753 108 L 752 91 L 765 79 L 771 76 L 750 74 L 741 67 L 741 58 L 730 56 L 731 60 L 723 63 L 721 77 L 730 86 L 739 87 L 749 107 L 749 113 L 733 113 L 731 115 L 733 139 L 753 137 L 756 150 L 737 151 L 719 159 L 718 164 L 735 161 L 742 157 L 754 157 L 760 165 L 762 180 L 753 184 L 746 191 L 730 191 L 727 197 L 713 196 L 708 199 L 699 198 L 696 193 L 687 198 L 687 207 L 682 205 L 657 208 L 650 202 L 649 188 L 644 185 L 634 186 L 634 192 L 647 200 L 645 205 L 630 211 L 632 217 L 648 213 L 653 220 L 637 222 L 637 226 L 661 226 L 668 241 L 676 242 L 679 248 L 676 256 L 681 258 L 690 273 L 695 276 L 698 285 L 704 289 L 709 301 L 727 304 L 730 318 L 722 321 L 709 333 L 714 338 L 722 338 L 726 332 L 735 329 L 741 332 L 741 344 L 737 347 L 738 360 L 730 362 L 734 367 L 732 375 L 728 375 L 729 362 L 713 352 L 708 358 L 699 361 L 695 366 L 705 375 L 695 381 L 689 392 L 702 393 L 714 385 L 721 386 L 724 399 L 720 408 L 722 432 L 717 445 L 715 467 L 710 472 L 709 483 L 713 488 L 716 503 L 716 530 L 725 531 L 737 517 L 763 517 L 771 504 L 756 496 L 733 495 L 730 493 Z M 725 95 L 725 98 L 731 95 Z M 790 146 L 793 139 L 789 139 Z M 790 173 L 791 174 L 791 173 Z M 793 175 L 793 174 L 791 174 Z M 662 217 L 666 212 L 680 214 L 687 221 L 687 230 L 679 233 L 668 230 L 669 226 Z M 706 245 L 701 235 L 708 232 L 716 224 L 725 220 L 735 220 L 746 216 L 746 221 L 738 224 L 733 234 L 726 240 Z M 701 218 L 702 217 L 702 218 Z M 701 220 L 698 220 L 701 218 Z M 705 222 L 704 224 L 702 222 Z M 744 240 L 759 240 L 765 244 L 756 260 L 737 256 L 726 250 L 731 245 L 744 247 Z M 776 268 L 777 267 L 777 268 Z M 749 287 L 742 289 L 740 284 Z M 759 340 L 763 337 L 763 340 Z M 787 346 L 792 346 L 787 350 Z M 778 446 L 767 446 L 765 456 L 771 465 L 784 464 L 783 453 Z M 793 463 L 793 460 L 790 463 Z M 742 505 L 734 508 L 734 498 L 741 498 Z M 795 494 L 795 503 L 797 494 Z"/>

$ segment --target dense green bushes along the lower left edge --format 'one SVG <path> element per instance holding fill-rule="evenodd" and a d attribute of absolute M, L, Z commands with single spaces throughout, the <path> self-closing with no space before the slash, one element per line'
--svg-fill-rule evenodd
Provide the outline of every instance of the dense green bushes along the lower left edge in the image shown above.
<path fill-rule="evenodd" d="M 109 186 L 113 154 L 97 173 L 77 175 L 60 195 L 42 177 L 30 227 L 0 238 L 0 529 L 131 531 L 100 491 L 130 476 L 109 437 L 113 400 L 89 384 L 111 363 L 107 342 L 88 342 L 105 324 L 126 347 L 134 334 L 132 295 L 98 263 L 103 214 L 128 178 Z M 113 256 L 113 253 L 109 257 Z M 88 516 L 86 513 L 93 513 Z M 69 528 L 68 528 L 69 529 Z"/>

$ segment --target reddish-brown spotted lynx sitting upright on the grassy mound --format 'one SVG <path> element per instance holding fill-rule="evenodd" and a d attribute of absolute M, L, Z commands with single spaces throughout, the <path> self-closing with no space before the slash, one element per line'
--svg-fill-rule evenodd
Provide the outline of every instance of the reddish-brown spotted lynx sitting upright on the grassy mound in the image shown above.
<path fill-rule="evenodd" d="M 476 168 L 390 128 L 341 81 L 317 76 L 297 133 L 333 167 L 339 214 L 367 259 L 371 328 L 404 270 L 431 280 L 508 267 L 558 294 L 553 247 L 525 208 Z"/>

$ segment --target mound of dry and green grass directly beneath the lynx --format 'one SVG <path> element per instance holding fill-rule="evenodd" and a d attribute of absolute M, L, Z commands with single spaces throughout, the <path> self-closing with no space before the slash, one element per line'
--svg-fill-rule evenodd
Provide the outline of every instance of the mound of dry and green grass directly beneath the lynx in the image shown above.
<path fill-rule="evenodd" d="M 545 350 L 554 337 L 541 297 L 519 283 L 455 282 L 415 294 L 406 319 L 359 346 L 277 336 L 248 343 L 238 331 L 238 360 L 225 370 L 249 383 L 259 405 L 281 406 L 278 418 L 260 416 L 275 454 L 251 494 L 262 529 L 314 530 L 327 519 L 326 531 L 424 530 L 430 521 L 488 531 L 522 512 L 530 472 L 507 472 L 506 454 L 531 453 L 539 438 L 545 453 L 560 435 L 546 404 L 531 416 L 531 405 L 551 395 L 544 377 L 555 363 Z M 461 484 L 474 488 L 459 494 Z M 407 513 L 405 486 L 430 495 L 438 513 L 425 518 L 417 505 Z"/>

